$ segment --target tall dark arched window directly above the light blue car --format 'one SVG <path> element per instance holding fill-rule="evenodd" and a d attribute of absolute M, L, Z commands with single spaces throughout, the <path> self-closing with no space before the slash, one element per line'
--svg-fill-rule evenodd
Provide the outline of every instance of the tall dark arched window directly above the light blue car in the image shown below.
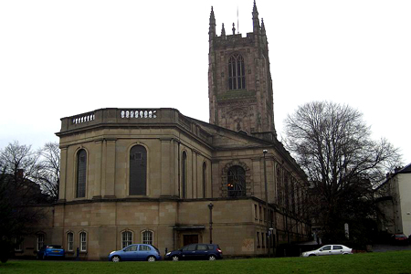
<path fill-rule="evenodd" d="M 130 151 L 130 195 L 146 195 L 147 150 L 134 145 Z"/>

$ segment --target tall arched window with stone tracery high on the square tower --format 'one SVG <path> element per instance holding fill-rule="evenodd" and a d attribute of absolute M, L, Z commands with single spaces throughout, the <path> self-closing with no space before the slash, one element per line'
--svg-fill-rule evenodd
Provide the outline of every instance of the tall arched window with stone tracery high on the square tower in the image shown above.
<path fill-rule="evenodd" d="M 228 60 L 228 89 L 246 89 L 246 67 L 241 55 L 234 54 Z"/>

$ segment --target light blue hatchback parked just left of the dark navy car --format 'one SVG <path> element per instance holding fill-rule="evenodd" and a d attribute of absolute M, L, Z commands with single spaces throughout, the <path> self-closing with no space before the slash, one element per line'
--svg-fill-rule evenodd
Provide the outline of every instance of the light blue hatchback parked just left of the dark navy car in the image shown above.
<path fill-rule="evenodd" d="M 135 244 L 122 248 L 121 250 L 112 251 L 109 260 L 119 262 L 121 260 L 148 260 L 155 261 L 162 259 L 160 251 L 152 245 Z"/>

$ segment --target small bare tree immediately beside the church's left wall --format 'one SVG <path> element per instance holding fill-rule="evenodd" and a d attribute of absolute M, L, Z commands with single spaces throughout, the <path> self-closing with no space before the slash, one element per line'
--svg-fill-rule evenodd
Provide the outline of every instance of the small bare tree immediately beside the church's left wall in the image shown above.
<path fill-rule="evenodd" d="M 58 199 L 58 184 L 60 180 L 60 149 L 57 142 L 47 142 L 39 150 L 40 162 L 36 180 L 41 189 L 54 201 Z"/>

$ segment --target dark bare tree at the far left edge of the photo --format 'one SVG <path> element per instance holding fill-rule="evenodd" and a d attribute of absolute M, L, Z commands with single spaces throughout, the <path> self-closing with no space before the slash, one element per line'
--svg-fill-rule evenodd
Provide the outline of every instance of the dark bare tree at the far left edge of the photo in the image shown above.
<path fill-rule="evenodd" d="M 0 151 L 0 258 L 5 262 L 16 240 L 32 233 L 44 217 L 37 205 L 47 203 L 47 196 L 33 180 L 38 169 L 38 154 L 30 146 L 9 143 Z"/>

